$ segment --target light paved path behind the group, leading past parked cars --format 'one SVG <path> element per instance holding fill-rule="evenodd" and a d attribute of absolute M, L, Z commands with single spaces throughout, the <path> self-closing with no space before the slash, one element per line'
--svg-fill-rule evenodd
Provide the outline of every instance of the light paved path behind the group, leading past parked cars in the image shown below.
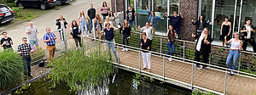
<path fill-rule="evenodd" d="M 58 19 L 60 15 L 63 15 L 67 22 L 70 24 L 72 20 L 77 20 L 81 9 L 84 9 L 84 12 L 86 12 L 87 14 L 87 10 L 90 8 L 90 3 L 94 4 L 94 8 L 96 8 L 97 13 L 99 13 L 99 8 L 102 6 L 103 1 L 107 1 L 108 5 L 110 5 L 110 0 L 75 0 L 66 7 L 63 7 L 59 10 L 52 10 L 48 14 L 43 14 L 40 17 L 31 20 L 33 22 L 33 25 L 36 25 L 38 27 L 38 38 L 42 40 L 45 34 L 46 27 L 50 27 L 51 31 L 56 30 L 57 26 L 55 25 L 55 20 Z M 25 31 L 28 24 L 29 21 L 26 21 L 15 24 L 14 26 L 12 26 L 12 28 L 4 30 L 7 31 L 8 36 L 13 39 L 13 48 L 15 50 L 17 49 L 17 46 L 21 43 L 21 38 L 24 36 L 27 37 Z M 69 26 L 70 25 L 68 25 L 68 29 Z M 39 43 L 44 44 L 44 42 L 42 41 Z"/>

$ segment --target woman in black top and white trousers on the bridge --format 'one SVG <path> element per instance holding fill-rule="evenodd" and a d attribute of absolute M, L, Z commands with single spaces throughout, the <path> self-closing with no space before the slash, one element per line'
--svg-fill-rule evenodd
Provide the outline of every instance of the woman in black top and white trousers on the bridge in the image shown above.
<path fill-rule="evenodd" d="M 146 70 L 147 68 L 147 63 L 148 63 L 148 72 L 150 72 L 151 69 L 151 61 L 150 61 L 150 56 L 151 53 L 148 52 L 151 50 L 150 48 L 150 40 L 148 39 L 148 37 L 146 36 L 146 33 L 143 32 L 143 38 L 140 40 L 140 47 L 142 47 L 142 56 L 143 56 L 143 70 Z M 148 51 L 145 51 L 148 50 Z"/>

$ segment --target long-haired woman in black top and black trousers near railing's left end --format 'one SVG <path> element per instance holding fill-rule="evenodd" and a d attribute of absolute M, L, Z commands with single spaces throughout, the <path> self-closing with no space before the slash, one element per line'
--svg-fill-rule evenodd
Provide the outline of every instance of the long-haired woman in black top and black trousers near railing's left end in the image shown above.
<path fill-rule="evenodd" d="M 72 25 L 70 27 L 70 34 L 72 35 L 71 38 L 73 38 L 73 40 L 76 42 L 77 48 L 79 48 L 79 46 L 80 48 L 82 48 L 81 37 L 79 36 L 81 35 L 81 31 L 76 20 L 72 21 Z"/>

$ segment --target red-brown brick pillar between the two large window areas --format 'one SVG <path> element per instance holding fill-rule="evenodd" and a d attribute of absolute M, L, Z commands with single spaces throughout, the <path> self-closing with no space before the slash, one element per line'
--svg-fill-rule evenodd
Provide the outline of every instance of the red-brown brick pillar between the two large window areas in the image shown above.
<path fill-rule="evenodd" d="M 193 41 L 191 33 L 195 32 L 195 25 L 192 25 L 191 20 L 197 20 L 198 0 L 180 0 L 180 12 L 183 13 L 184 20 L 180 29 L 181 38 L 184 40 Z"/>

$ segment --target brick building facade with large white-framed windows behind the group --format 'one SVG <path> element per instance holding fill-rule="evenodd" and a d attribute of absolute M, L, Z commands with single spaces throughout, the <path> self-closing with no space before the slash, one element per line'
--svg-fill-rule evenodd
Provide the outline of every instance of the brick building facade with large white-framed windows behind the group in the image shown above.
<path fill-rule="evenodd" d="M 193 41 L 191 34 L 195 32 L 195 25 L 191 20 L 198 20 L 199 15 L 204 15 L 205 20 L 210 20 L 208 27 L 214 41 L 218 42 L 220 28 L 224 18 L 230 18 L 232 31 L 240 31 L 245 20 L 251 19 L 256 25 L 256 0 L 112 0 L 113 11 L 126 10 L 128 6 L 137 11 L 136 24 L 145 25 L 148 21 L 149 11 L 154 11 L 157 16 L 165 20 L 157 20 L 156 31 L 164 35 L 169 25 L 165 13 L 173 15 L 173 11 L 183 13 L 184 19 L 181 26 L 181 37 L 184 40 Z M 255 15 L 254 15 L 255 14 Z"/>

